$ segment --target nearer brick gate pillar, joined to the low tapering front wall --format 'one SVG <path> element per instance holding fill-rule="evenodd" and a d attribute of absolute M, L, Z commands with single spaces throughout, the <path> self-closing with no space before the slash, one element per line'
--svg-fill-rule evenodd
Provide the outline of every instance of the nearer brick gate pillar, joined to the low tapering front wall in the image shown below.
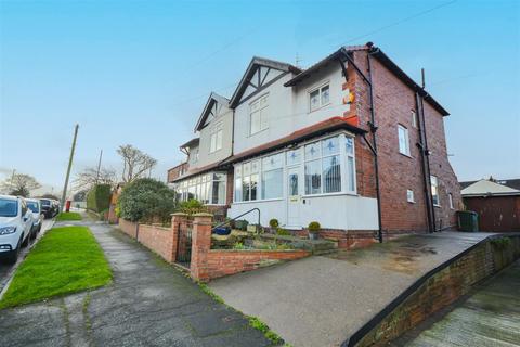
<path fill-rule="evenodd" d="M 195 214 L 192 231 L 190 273 L 196 281 L 209 281 L 208 253 L 211 248 L 211 214 Z"/>

